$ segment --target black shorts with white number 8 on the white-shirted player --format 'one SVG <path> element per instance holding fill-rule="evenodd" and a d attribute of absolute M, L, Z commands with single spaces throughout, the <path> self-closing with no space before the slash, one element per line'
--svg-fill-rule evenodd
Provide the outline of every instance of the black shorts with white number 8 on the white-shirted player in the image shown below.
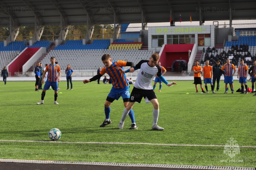
<path fill-rule="evenodd" d="M 140 103 L 142 97 L 144 97 L 144 98 L 147 97 L 148 100 L 157 99 L 156 94 L 153 89 L 152 90 L 142 90 L 142 89 L 137 89 L 137 88 L 133 87 L 129 102 Z"/>

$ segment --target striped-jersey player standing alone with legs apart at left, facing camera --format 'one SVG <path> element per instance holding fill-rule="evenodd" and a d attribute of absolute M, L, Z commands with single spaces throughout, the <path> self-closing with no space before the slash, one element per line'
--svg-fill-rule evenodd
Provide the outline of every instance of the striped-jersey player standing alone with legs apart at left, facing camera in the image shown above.
<path fill-rule="evenodd" d="M 48 90 L 51 86 L 52 89 L 54 90 L 54 104 L 59 104 L 57 103 L 57 97 L 58 97 L 58 82 L 60 81 L 60 66 L 55 64 L 55 57 L 51 57 L 51 64 L 47 65 L 45 67 L 45 71 L 43 74 L 43 77 L 45 77 L 46 72 L 48 72 L 47 75 L 47 80 L 44 84 L 44 89 L 41 95 L 41 101 L 38 102 L 37 104 L 43 104 L 44 103 L 44 96 L 46 90 Z M 57 73 L 59 73 L 57 75 Z M 42 79 L 41 84 L 44 83 L 44 79 Z"/>

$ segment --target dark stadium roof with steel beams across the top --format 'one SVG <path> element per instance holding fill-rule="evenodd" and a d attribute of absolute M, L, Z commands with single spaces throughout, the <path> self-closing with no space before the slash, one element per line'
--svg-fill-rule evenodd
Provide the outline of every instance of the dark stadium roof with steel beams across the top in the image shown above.
<path fill-rule="evenodd" d="M 255 0 L 2 0 L 0 27 L 256 19 Z M 230 12 L 231 11 L 231 12 Z M 143 14 L 142 14 L 143 13 Z M 11 17 L 10 17 L 11 16 Z M 11 19 L 10 19 L 11 18 Z"/>

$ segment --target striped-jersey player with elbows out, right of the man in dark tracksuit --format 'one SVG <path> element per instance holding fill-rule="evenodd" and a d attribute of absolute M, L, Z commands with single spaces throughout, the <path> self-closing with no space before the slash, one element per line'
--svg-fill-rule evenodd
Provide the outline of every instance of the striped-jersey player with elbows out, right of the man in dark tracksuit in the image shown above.
<path fill-rule="evenodd" d="M 225 73 L 224 83 L 225 83 L 225 92 L 228 93 L 228 83 L 230 83 L 231 93 L 234 94 L 234 85 L 233 85 L 233 76 L 236 73 L 236 67 L 233 64 L 230 64 L 230 60 L 227 59 L 227 64 L 221 67 L 221 70 Z"/>

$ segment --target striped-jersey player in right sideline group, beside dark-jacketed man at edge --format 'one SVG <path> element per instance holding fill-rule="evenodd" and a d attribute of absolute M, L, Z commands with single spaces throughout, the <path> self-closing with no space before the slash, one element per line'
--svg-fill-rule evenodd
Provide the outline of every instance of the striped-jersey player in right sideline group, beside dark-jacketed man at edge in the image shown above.
<path fill-rule="evenodd" d="M 238 66 L 237 78 L 239 79 L 239 83 L 241 83 L 242 92 L 240 94 L 244 94 L 244 86 L 245 86 L 245 94 L 248 94 L 247 87 L 247 75 L 248 75 L 248 66 L 244 64 L 244 60 L 240 60 L 240 66 Z"/>

